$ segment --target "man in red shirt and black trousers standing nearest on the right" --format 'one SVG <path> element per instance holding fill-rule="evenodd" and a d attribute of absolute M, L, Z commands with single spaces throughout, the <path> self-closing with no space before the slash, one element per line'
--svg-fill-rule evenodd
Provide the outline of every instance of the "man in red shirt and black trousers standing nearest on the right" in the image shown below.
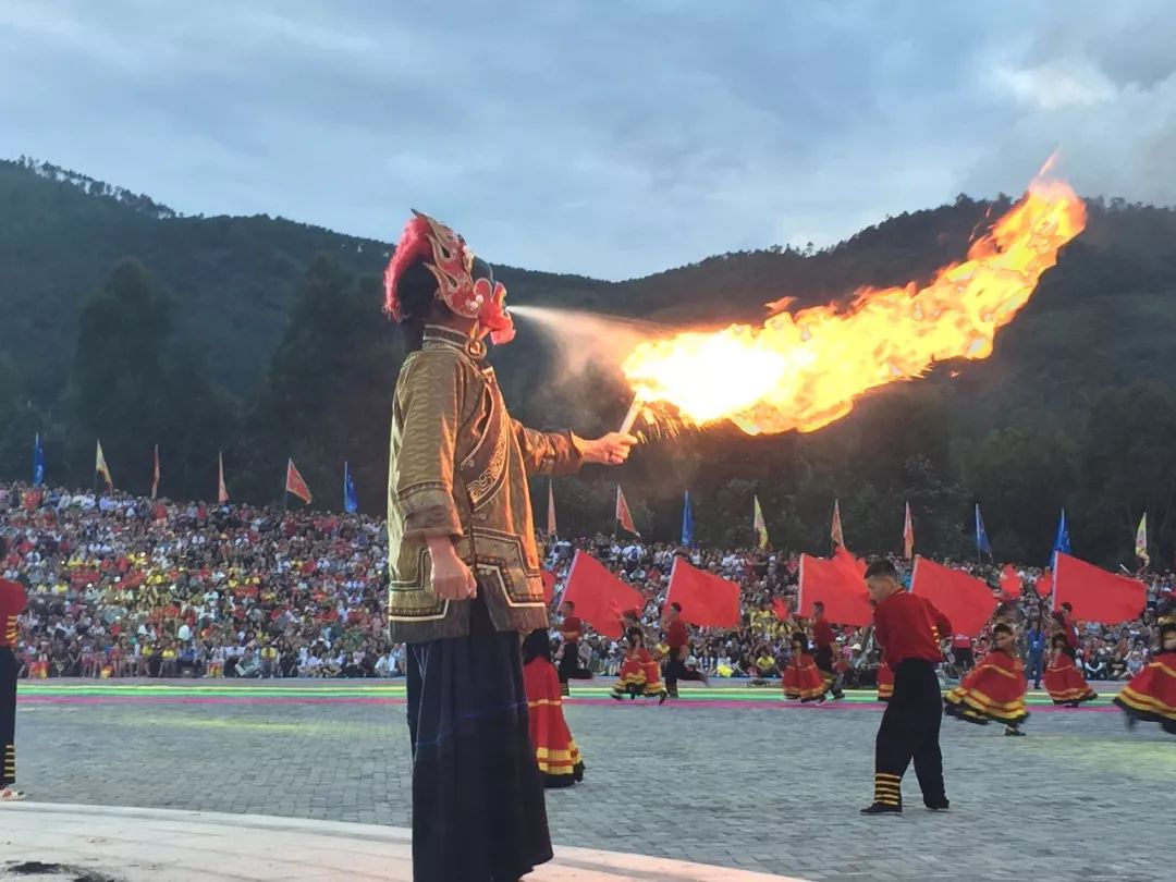
<path fill-rule="evenodd" d="M 911 760 L 923 804 L 944 811 L 949 803 L 940 753 L 943 697 L 935 674 L 943 652 L 936 640 L 935 608 L 903 589 L 888 560 L 867 567 L 866 584 L 875 604 L 874 635 L 894 670 L 894 694 L 874 747 L 874 802 L 862 814 L 902 811 L 902 776 Z"/>

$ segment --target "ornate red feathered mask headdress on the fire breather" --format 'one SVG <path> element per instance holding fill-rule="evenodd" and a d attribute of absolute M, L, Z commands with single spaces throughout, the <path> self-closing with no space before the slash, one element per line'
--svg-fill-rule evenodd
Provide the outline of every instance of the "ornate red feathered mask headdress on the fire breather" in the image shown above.
<path fill-rule="evenodd" d="M 437 280 L 437 296 L 453 312 L 467 319 L 477 319 L 496 345 L 514 338 L 514 322 L 506 310 L 507 289 L 492 279 L 475 281 L 470 274 L 474 252 L 466 246 L 466 240 L 446 225 L 416 211 L 383 274 L 385 309 L 394 321 L 401 321 L 396 285 L 405 270 L 417 260 L 426 261 L 425 266 Z"/>

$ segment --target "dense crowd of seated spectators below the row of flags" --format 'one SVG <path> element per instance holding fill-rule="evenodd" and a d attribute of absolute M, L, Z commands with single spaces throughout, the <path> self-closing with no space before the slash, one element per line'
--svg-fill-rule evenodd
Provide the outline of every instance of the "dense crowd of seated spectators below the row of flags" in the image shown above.
<path fill-rule="evenodd" d="M 0 533 L 9 553 L 0 575 L 28 590 L 18 655 L 27 677 L 394 677 L 403 647 L 387 639 L 387 540 L 362 515 L 176 503 L 120 493 L 0 487 Z M 559 541 L 547 567 L 562 581 L 576 549 L 593 554 L 646 597 L 656 630 L 675 554 L 737 582 L 743 616 L 734 630 L 695 634 L 689 664 L 711 676 L 763 682 L 787 663 L 788 635 L 773 600 L 795 609 L 799 557 L 774 552 L 689 549 L 597 536 Z M 896 563 L 902 567 L 901 561 Z M 998 583 L 998 572 L 961 563 Z M 1015 601 L 1022 648 L 1048 630 L 1035 592 L 1040 570 L 1021 570 Z M 1090 680 L 1122 680 L 1142 667 L 1155 610 L 1171 573 L 1148 576 L 1148 609 L 1129 624 L 1081 626 L 1078 660 Z M 553 632 L 554 634 L 554 632 Z M 874 683 L 869 628 L 838 629 L 847 686 Z M 980 655 L 987 634 L 969 647 Z M 623 649 L 589 632 L 581 663 L 615 674 Z M 948 670 L 949 675 L 953 671 Z"/>

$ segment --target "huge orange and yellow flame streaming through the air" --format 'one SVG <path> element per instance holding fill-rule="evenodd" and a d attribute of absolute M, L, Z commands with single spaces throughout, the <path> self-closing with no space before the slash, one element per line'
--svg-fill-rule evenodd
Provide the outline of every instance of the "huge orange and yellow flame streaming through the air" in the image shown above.
<path fill-rule="evenodd" d="M 644 341 L 624 374 L 641 401 L 673 405 L 699 425 L 730 420 L 751 435 L 814 432 L 869 389 L 917 377 L 936 361 L 987 359 L 997 329 L 1085 220 L 1069 186 L 1038 179 L 965 261 L 923 288 L 863 288 L 844 309 L 779 312 L 762 327 Z"/>

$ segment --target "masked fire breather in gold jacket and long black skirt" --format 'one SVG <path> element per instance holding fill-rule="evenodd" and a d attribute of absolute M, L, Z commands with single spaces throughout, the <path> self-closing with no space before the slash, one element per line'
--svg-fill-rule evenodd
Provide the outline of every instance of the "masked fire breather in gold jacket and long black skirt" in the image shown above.
<path fill-rule="evenodd" d="M 422 214 L 385 274 L 409 352 L 388 472 L 388 617 L 408 644 L 415 882 L 517 880 L 552 860 L 520 634 L 548 624 L 527 479 L 620 465 L 635 440 L 510 419 L 486 338 L 514 336 L 506 288 Z"/>

